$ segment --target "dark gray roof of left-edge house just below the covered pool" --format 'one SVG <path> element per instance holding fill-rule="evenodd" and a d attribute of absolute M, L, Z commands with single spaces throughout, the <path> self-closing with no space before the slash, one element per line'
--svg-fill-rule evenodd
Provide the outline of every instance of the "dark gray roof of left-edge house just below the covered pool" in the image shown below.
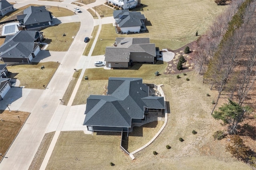
<path fill-rule="evenodd" d="M 33 52 L 35 40 L 40 36 L 38 31 L 19 31 L 14 36 L 6 36 L 0 46 L 1 57 L 28 57 Z"/>

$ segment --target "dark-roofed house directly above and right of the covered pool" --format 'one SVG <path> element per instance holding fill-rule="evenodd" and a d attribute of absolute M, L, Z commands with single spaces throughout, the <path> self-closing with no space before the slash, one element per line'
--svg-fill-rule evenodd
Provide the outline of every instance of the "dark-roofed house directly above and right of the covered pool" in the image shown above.
<path fill-rule="evenodd" d="M 45 6 L 30 6 L 23 11 L 23 15 L 18 15 L 17 20 L 21 26 L 27 30 L 52 25 L 52 14 L 46 10 Z"/>

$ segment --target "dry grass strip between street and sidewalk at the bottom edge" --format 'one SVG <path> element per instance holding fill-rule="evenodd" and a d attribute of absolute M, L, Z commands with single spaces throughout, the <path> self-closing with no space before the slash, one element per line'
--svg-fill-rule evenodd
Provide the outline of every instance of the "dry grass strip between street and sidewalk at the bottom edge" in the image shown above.
<path fill-rule="evenodd" d="M 29 170 L 39 170 L 40 166 L 44 160 L 44 156 L 46 155 L 46 152 L 52 142 L 52 138 L 54 136 L 55 132 L 46 133 L 44 135 L 44 138 L 38 147 L 38 150 L 29 166 Z"/>

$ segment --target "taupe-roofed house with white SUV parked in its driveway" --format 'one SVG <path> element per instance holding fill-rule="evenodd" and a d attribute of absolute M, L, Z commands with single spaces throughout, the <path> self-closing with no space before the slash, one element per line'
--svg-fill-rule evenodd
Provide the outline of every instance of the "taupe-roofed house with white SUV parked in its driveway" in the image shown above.
<path fill-rule="evenodd" d="M 107 67 L 118 68 L 128 68 L 132 62 L 154 63 L 157 49 L 149 38 L 116 38 L 114 46 L 106 47 L 104 61 Z"/>

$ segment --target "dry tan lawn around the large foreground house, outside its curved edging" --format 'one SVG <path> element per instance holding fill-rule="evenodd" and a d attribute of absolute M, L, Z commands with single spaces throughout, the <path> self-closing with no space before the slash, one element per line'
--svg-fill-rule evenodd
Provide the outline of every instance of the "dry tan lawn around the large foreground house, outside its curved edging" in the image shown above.
<path fill-rule="evenodd" d="M 181 77 L 161 75 L 143 80 L 144 83 L 164 85 L 162 88 L 170 110 L 164 130 L 152 144 L 134 155 L 135 160 L 121 152 L 120 136 L 62 132 L 47 169 L 62 169 L 64 166 L 112 169 L 110 162 L 116 164 L 115 169 L 250 169 L 225 152 L 225 140 L 213 140 L 214 131 L 223 128 L 220 121 L 210 115 L 211 101 L 216 92 L 210 91 L 194 71 L 186 75 L 190 81 Z M 93 84 L 94 87 L 102 86 L 103 92 L 102 80 L 93 81 Z M 89 94 L 96 92 L 88 91 Z M 206 93 L 211 96 L 207 97 Z M 198 133 L 192 134 L 193 129 Z M 184 142 L 179 141 L 180 137 Z M 167 144 L 172 147 L 170 150 L 166 149 Z M 154 150 L 158 155 L 153 155 Z"/>

